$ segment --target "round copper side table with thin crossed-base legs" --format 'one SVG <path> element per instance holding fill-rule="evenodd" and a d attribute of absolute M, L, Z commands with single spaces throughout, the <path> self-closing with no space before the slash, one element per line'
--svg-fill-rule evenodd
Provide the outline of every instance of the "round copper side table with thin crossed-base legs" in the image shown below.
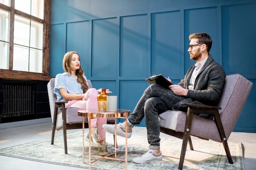
<path fill-rule="evenodd" d="M 128 148 L 127 148 L 127 118 L 130 115 L 130 110 L 126 109 L 117 109 L 117 111 L 112 111 L 112 112 L 98 112 L 97 109 L 86 109 L 86 110 L 79 110 L 78 111 L 78 116 L 83 116 L 83 163 L 84 163 L 84 156 L 88 155 L 89 156 L 89 170 L 91 169 L 91 164 L 99 161 L 101 159 L 112 159 L 112 160 L 117 160 L 117 161 L 125 161 L 126 165 L 126 170 L 127 170 L 127 157 L 128 157 Z M 84 134 L 84 118 L 88 118 L 88 123 L 89 123 L 89 154 L 84 153 L 84 141 L 85 141 L 85 134 Z M 99 156 L 99 155 L 92 155 L 91 153 L 91 118 L 115 118 L 115 152 L 110 153 L 105 156 Z M 119 159 L 117 158 L 117 118 L 125 118 L 126 119 L 126 149 L 125 149 L 125 159 Z M 115 157 L 109 157 L 110 155 L 114 155 Z M 96 159 L 95 161 L 92 162 L 91 158 L 92 157 L 98 157 L 99 159 Z"/>

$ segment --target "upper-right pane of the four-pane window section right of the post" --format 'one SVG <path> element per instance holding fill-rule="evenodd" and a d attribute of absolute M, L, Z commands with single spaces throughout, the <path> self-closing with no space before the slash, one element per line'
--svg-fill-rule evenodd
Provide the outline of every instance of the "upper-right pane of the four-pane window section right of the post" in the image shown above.
<path fill-rule="evenodd" d="M 43 24 L 31 21 L 30 47 L 43 49 Z"/>

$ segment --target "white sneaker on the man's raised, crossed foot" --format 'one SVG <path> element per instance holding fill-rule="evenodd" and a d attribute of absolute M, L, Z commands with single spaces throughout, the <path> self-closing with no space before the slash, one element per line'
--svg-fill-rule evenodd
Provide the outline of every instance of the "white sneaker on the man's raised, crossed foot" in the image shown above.
<path fill-rule="evenodd" d="M 115 124 L 103 124 L 103 129 L 108 133 L 115 135 Z M 123 124 L 117 124 L 117 135 L 125 137 L 125 127 Z M 127 138 L 130 138 L 132 135 L 132 130 L 127 130 Z"/>

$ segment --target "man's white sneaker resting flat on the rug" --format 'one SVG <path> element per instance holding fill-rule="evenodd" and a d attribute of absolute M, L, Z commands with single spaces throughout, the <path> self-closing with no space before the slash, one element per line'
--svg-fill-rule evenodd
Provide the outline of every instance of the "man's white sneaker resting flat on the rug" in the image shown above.
<path fill-rule="evenodd" d="M 132 159 L 134 163 L 148 163 L 153 161 L 162 161 L 162 153 L 156 154 L 152 149 L 148 150 L 144 155 Z"/>

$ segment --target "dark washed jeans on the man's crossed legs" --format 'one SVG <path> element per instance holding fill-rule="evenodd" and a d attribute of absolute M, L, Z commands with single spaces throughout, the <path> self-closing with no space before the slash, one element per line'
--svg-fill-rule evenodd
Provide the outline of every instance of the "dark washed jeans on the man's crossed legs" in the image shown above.
<path fill-rule="evenodd" d="M 139 99 L 134 111 L 128 118 L 128 125 L 133 127 L 140 124 L 145 117 L 146 128 L 148 131 L 148 143 L 150 149 L 160 148 L 160 131 L 158 115 L 172 110 L 173 105 L 183 100 L 184 96 L 175 95 L 170 89 L 161 85 L 152 84 Z"/>

